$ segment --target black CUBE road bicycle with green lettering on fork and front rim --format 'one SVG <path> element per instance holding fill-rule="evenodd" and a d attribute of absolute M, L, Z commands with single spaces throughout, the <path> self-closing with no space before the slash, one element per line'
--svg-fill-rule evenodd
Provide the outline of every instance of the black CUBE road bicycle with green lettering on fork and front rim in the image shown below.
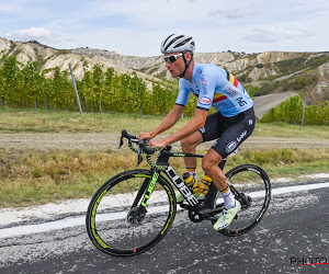
<path fill-rule="evenodd" d="M 124 139 L 138 153 L 137 165 L 145 157 L 150 169 L 124 171 L 94 193 L 87 210 L 86 226 L 98 249 L 118 256 L 140 254 L 167 235 L 177 210 L 188 210 L 190 220 L 194 222 L 208 220 L 214 224 L 217 220 L 224 199 L 214 184 L 202 199 L 195 198 L 169 164 L 172 157 L 202 158 L 203 155 L 173 152 L 171 146 L 162 150 L 149 148 L 148 140 L 138 140 L 126 130 L 122 132 L 120 147 Z M 225 163 L 226 159 L 219 163 L 220 169 Z M 241 209 L 232 222 L 218 232 L 237 237 L 254 228 L 264 217 L 271 199 L 271 183 L 265 171 L 254 164 L 238 165 L 226 176 Z M 183 195 L 184 202 L 177 203 L 173 186 Z"/>

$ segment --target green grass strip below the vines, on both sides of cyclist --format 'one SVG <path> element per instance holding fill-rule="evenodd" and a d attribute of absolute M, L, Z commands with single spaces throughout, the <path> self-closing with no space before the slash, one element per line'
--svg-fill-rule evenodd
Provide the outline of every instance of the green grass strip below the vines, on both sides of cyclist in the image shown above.
<path fill-rule="evenodd" d="M 121 113 L 79 113 L 65 111 L 16 111 L 0 107 L 0 133 L 129 133 L 149 132 L 163 116 Z M 180 119 L 168 133 L 188 123 Z M 285 123 L 257 123 L 252 136 L 329 139 L 328 126 L 300 126 Z"/>

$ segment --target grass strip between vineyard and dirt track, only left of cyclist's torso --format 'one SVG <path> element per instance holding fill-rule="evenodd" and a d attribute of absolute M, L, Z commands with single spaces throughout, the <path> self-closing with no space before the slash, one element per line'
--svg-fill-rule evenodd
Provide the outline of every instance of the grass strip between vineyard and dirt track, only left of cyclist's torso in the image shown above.
<path fill-rule="evenodd" d="M 13 111 L 0 107 L 0 133 L 129 133 L 147 132 L 163 116 L 122 113 L 79 113 L 65 111 Z M 178 128 L 188 119 L 179 121 Z M 173 130 L 172 129 L 172 130 Z"/>

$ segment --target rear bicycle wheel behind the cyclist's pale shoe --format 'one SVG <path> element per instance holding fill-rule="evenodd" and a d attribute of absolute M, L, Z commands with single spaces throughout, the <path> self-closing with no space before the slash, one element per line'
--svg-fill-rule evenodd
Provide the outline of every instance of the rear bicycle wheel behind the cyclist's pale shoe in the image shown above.
<path fill-rule="evenodd" d="M 218 230 L 218 232 L 237 237 L 250 231 L 264 217 L 271 201 L 271 182 L 266 172 L 254 164 L 238 165 L 225 175 L 235 198 L 241 202 L 241 209 L 231 224 L 227 228 Z M 241 199 L 237 191 L 251 198 L 250 203 Z M 211 205 L 213 208 L 224 206 L 219 191 L 214 192 Z M 215 221 L 212 220 L 213 225 Z"/>

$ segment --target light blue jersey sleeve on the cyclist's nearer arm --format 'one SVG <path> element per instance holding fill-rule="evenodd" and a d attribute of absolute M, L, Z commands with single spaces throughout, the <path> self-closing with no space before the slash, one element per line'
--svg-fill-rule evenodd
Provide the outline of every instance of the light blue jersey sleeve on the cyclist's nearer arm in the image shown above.
<path fill-rule="evenodd" d="M 196 103 L 196 109 L 209 111 L 215 94 L 215 75 L 209 69 L 204 68 L 200 72 L 198 81 L 200 94 Z"/>

